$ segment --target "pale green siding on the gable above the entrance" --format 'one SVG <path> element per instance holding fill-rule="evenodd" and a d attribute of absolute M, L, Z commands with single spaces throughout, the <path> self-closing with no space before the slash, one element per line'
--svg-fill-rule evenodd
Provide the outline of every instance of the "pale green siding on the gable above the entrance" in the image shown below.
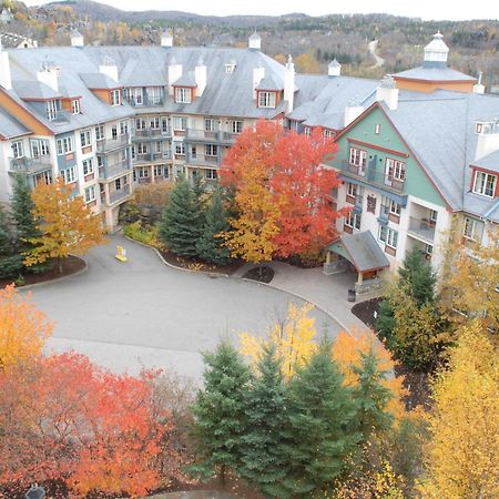
<path fill-rule="evenodd" d="M 379 134 L 375 133 L 376 124 L 381 125 Z M 440 206 L 446 206 L 444 197 L 438 193 L 422 169 L 415 161 L 410 154 L 410 151 L 400 140 L 397 132 L 394 130 L 394 126 L 380 109 L 374 109 L 367 116 L 355 124 L 352 130 L 338 140 L 338 152 L 336 157 L 329 163 L 332 166 L 340 169 L 342 160 L 348 160 L 348 139 L 356 139 L 380 147 L 391 149 L 409 154 L 409 157 L 406 159 L 397 155 L 390 155 L 376 149 L 369 149 L 368 146 L 352 144 L 353 146 L 367 151 L 367 162 L 369 162 L 369 160 L 376 154 L 378 156 L 377 171 L 379 172 L 385 171 L 387 157 L 405 161 L 407 166 L 404 193 Z"/>

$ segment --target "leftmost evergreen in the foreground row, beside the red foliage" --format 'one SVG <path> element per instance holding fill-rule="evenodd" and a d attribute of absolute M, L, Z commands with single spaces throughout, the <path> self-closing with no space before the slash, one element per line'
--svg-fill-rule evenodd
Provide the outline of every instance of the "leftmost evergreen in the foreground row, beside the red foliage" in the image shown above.
<path fill-rule="evenodd" d="M 204 363 L 204 389 L 192 407 L 200 461 L 190 467 L 190 472 L 202 479 L 216 472 L 225 483 L 226 470 L 241 467 L 241 440 L 246 430 L 244 399 L 251 373 L 225 342 L 213 354 L 205 354 Z"/>

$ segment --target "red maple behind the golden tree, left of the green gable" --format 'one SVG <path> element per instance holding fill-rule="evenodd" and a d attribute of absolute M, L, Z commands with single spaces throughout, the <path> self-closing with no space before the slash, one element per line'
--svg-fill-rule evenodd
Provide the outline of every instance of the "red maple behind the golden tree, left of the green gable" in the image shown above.
<path fill-rule="evenodd" d="M 277 122 L 259 121 L 227 152 L 221 170 L 224 185 L 236 195 L 251 190 L 245 175 L 251 166 L 259 170 L 261 183 L 272 193 L 278 211 L 278 232 L 272 241 L 276 255 L 314 253 L 336 235 L 334 221 L 347 210 L 335 210 L 330 195 L 342 181 L 335 170 L 324 166 L 336 150 L 320 129 L 307 136 L 286 131 Z"/>

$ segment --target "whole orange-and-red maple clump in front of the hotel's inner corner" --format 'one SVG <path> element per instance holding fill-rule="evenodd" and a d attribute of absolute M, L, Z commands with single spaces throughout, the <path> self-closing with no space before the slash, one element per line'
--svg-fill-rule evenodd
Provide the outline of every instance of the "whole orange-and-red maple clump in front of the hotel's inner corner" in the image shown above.
<path fill-rule="evenodd" d="M 221 181 L 234 190 L 238 212 L 228 245 L 237 246 L 235 238 L 255 245 L 261 235 L 255 225 L 272 253 L 283 257 L 315 253 L 332 241 L 334 220 L 346 214 L 337 212 L 330 201 L 342 181 L 335 170 L 324 165 L 336 150 L 333 139 L 324 138 L 320 129 L 310 136 L 301 135 L 264 120 L 246 129 L 221 169 Z M 235 253 L 241 255 L 241 251 Z"/>

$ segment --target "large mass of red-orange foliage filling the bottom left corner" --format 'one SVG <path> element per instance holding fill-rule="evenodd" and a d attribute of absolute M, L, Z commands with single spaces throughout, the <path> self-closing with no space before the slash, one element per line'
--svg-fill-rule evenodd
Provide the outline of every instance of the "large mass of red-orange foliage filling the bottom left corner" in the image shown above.
<path fill-rule="evenodd" d="M 0 483 L 60 479 L 81 497 L 145 496 L 172 429 L 154 377 L 114 375 L 77 354 L 0 373 Z"/>

